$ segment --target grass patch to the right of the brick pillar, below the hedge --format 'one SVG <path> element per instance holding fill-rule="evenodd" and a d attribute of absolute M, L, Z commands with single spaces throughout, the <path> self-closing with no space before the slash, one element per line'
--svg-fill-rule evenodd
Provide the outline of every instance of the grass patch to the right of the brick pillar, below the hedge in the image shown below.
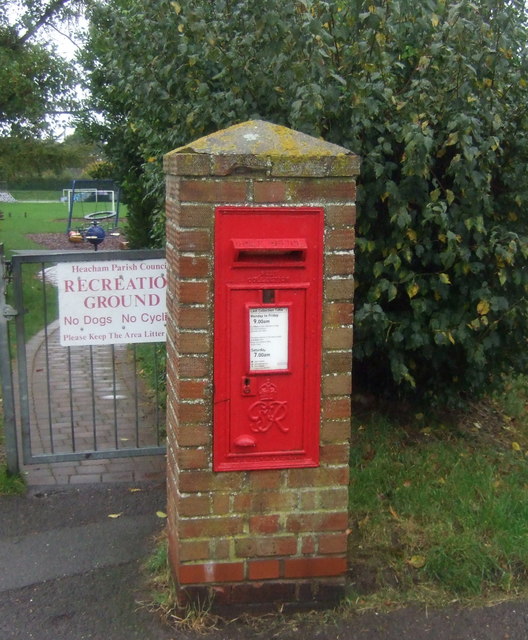
<path fill-rule="evenodd" d="M 508 381 L 504 394 L 450 423 L 422 413 L 356 417 L 349 536 L 356 603 L 440 605 L 526 593 L 527 383 Z"/>

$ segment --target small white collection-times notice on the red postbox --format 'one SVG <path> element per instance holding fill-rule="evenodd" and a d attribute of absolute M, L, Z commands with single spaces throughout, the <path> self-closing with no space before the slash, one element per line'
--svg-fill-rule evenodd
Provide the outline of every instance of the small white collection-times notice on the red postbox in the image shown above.
<path fill-rule="evenodd" d="M 288 368 L 288 308 L 249 310 L 249 368 L 282 371 Z"/>

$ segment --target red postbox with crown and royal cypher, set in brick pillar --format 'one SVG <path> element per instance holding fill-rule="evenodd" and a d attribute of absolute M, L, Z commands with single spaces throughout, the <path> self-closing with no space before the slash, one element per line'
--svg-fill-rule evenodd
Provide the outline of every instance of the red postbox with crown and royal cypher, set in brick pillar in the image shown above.
<path fill-rule="evenodd" d="M 215 213 L 215 471 L 319 464 L 323 210 Z"/>

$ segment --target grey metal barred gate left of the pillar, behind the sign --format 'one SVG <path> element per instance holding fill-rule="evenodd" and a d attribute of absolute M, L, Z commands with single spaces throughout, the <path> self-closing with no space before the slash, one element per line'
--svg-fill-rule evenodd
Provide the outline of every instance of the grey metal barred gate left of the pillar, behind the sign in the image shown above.
<path fill-rule="evenodd" d="M 165 453 L 158 384 L 165 344 L 61 346 L 54 284 L 61 262 L 163 257 L 162 250 L 23 251 L 6 261 L 0 248 L 0 373 L 11 471 Z"/>

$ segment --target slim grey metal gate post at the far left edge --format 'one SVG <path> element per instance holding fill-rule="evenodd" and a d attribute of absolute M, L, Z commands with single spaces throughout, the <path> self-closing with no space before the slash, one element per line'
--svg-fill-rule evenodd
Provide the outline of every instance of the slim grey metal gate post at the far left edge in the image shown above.
<path fill-rule="evenodd" d="M 0 243 L 0 378 L 2 379 L 2 397 L 4 399 L 4 441 L 7 470 L 9 473 L 18 473 L 20 468 L 18 466 L 15 394 L 7 324 L 9 318 L 13 317 L 16 312 L 6 303 L 6 282 L 4 245 Z"/>

